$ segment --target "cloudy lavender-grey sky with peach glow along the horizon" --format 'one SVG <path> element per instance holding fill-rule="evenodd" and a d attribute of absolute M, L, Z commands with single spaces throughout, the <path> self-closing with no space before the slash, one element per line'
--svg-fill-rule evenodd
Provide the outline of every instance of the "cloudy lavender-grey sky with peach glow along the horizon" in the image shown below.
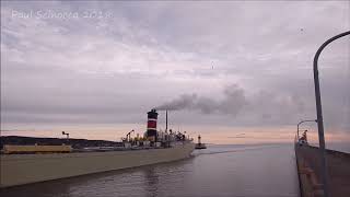
<path fill-rule="evenodd" d="M 155 107 L 208 142 L 292 141 L 349 30 L 349 1 L 1 1 L 1 135 L 115 140 Z M 319 58 L 326 140 L 350 141 L 349 42 Z"/>

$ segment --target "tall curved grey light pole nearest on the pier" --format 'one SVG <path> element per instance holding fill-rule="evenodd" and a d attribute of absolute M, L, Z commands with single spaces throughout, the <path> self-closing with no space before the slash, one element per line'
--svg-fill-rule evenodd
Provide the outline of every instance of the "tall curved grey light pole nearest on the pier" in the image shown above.
<path fill-rule="evenodd" d="M 314 83 L 315 83 L 315 99 L 316 99 L 316 111 L 317 111 L 317 127 L 318 127 L 318 140 L 319 140 L 319 151 L 320 151 L 320 170 L 322 170 L 322 179 L 324 184 L 324 197 L 329 196 L 328 192 L 328 179 L 327 179 L 327 163 L 326 163 L 326 146 L 325 146 L 325 136 L 324 136 L 324 119 L 322 116 L 322 103 L 320 103 L 320 91 L 319 91 L 319 79 L 318 79 L 318 57 L 323 49 L 330 44 L 331 42 L 350 35 L 350 31 L 338 34 L 328 40 L 326 40 L 315 54 L 314 57 Z"/>

